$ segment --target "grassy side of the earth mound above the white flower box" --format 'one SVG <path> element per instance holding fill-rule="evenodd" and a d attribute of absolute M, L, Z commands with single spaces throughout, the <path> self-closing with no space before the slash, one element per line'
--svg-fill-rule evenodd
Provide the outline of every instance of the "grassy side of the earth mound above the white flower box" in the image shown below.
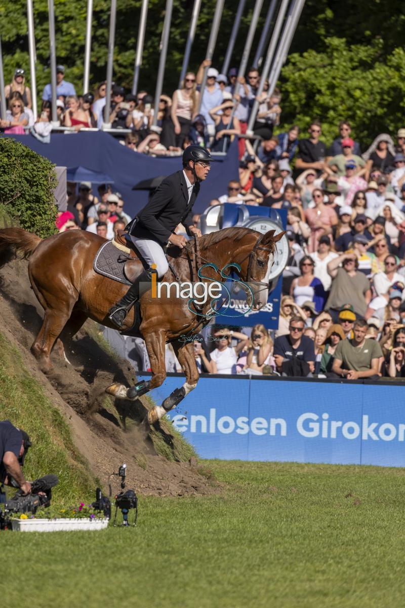
<path fill-rule="evenodd" d="M 28 479 L 54 473 L 60 478 L 58 500 L 93 496 L 95 480 L 73 445 L 63 414 L 24 366 L 21 354 L 0 333 L 0 420 L 26 430 L 33 442 L 24 473 Z"/>

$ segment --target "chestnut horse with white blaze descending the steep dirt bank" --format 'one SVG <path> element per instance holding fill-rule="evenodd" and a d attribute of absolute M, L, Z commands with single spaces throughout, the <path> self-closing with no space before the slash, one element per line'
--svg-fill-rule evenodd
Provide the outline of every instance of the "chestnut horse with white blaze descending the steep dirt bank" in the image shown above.
<path fill-rule="evenodd" d="M 239 264 L 237 274 L 240 280 L 249 283 L 253 292 L 253 309 L 260 309 L 268 299 L 268 277 L 276 242 L 283 234 L 274 236 L 274 230 L 269 230 L 262 235 L 255 230 L 237 227 L 219 230 L 199 238 L 201 260 L 219 269 L 229 263 Z M 45 373 L 52 367 L 50 353 L 55 341 L 60 339 L 63 342 L 73 337 L 88 317 L 115 329 L 107 311 L 124 295 L 128 286 L 94 271 L 93 260 L 104 241 L 102 237 L 82 230 L 69 230 L 41 240 L 19 228 L 0 229 L 0 266 L 16 251 L 29 258 L 30 283 L 45 312 L 43 325 L 31 350 Z M 191 249 L 190 245 L 188 243 L 188 249 Z M 182 282 L 193 280 L 191 258 L 186 249 L 170 247 L 168 258 L 177 278 Z M 205 268 L 204 274 L 211 280 L 225 281 L 214 268 Z M 169 269 L 162 281 L 172 283 L 176 277 Z M 152 299 L 149 290 L 140 300 L 140 333 L 145 339 L 151 362 L 151 381 L 139 382 L 128 390 L 117 384 L 106 389 L 120 398 L 137 398 L 160 386 L 166 378 L 165 344 L 171 342 L 186 382 L 181 389 L 175 389 L 162 406 L 149 410 L 150 423 L 177 406 L 196 387 L 199 379 L 192 341 L 185 340 L 184 336 L 198 333 L 203 317 L 189 309 L 187 300 L 170 295 L 165 297 L 161 294 L 159 298 Z M 207 314 L 210 307 L 208 302 L 200 312 Z M 122 331 L 133 324 L 134 308 L 129 312 Z"/>

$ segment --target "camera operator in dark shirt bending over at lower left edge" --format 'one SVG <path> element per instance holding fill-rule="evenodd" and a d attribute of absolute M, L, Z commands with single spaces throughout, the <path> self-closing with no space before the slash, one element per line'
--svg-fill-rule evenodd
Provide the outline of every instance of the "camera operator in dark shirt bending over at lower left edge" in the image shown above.
<path fill-rule="evenodd" d="M 18 487 L 24 494 L 30 494 L 31 484 L 21 469 L 30 446 L 30 438 L 24 430 L 13 426 L 9 420 L 0 422 L 0 484 Z"/>

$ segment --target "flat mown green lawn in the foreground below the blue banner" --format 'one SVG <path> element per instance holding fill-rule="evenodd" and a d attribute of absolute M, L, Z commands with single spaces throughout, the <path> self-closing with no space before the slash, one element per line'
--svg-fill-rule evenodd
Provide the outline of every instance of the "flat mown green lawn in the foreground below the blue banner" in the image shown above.
<path fill-rule="evenodd" d="M 44 608 L 403 606 L 403 469 L 206 465 L 221 496 L 141 497 L 131 530 L 1 533 L 0 595 Z"/>

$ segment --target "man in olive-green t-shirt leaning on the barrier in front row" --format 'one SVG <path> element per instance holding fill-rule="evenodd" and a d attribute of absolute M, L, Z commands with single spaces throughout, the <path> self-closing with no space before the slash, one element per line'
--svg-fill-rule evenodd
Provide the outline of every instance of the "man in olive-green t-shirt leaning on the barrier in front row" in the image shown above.
<path fill-rule="evenodd" d="M 359 319 L 353 325 L 354 337 L 341 340 L 336 347 L 332 371 L 339 377 L 379 378 L 379 358 L 383 357 L 383 351 L 376 340 L 366 339 L 367 329 L 367 321 Z"/>

